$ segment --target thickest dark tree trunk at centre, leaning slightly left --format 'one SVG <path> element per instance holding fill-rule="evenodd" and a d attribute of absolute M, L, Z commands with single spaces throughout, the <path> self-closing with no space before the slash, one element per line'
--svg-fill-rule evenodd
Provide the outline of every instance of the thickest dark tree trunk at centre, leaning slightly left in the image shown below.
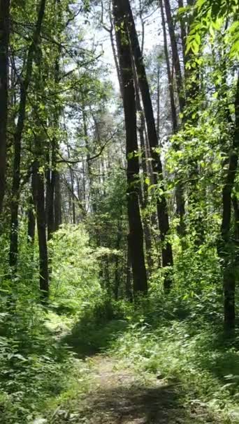
<path fill-rule="evenodd" d="M 129 248 L 133 271 L 133 291 L 147 293 L 147 275 L 143 251 L 143 226 L 139 206 L 139 160 L 136 121 L 136 100 L 133 70 L 126 24 L 120 1 L 113 0 L 115 33 L 119 47 L 119 66 L 123 82 L 124 121 L 126 129 L 127 211 L 129 218 Z M 125 40 L 126 39 L 126 40 Z"/>

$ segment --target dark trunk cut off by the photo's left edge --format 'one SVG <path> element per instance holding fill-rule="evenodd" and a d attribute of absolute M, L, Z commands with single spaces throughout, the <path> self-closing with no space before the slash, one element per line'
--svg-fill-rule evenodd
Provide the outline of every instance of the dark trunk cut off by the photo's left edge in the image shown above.
<path fill-rule="evenodd" d="M 10 0 L 0 0 L 0 215 L 6 185 L 9 8 Z"/>

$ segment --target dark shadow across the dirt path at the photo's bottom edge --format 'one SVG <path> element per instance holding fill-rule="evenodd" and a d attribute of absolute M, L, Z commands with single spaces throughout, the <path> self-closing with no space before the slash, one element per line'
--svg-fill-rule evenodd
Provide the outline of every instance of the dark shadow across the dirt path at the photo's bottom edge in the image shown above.
<path fill-rule="evenodd" d="M 87 424 L 209 424 L 202 407 L 183 407 L 173 387 L 118 386 L 90 393 L 77 423 Z"/>

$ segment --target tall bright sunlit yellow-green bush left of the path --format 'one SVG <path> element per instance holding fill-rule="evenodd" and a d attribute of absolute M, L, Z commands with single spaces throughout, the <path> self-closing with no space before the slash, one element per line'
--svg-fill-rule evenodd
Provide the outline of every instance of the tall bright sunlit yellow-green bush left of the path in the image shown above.
<path fill-rule="evenodd" d="M 99 264 L 89 247 L 89 236 L 83 225 L 63 225 L 50 241 L 52 249 L 52 306 L 58 312 L 87 310 L 101 297 Z"/>

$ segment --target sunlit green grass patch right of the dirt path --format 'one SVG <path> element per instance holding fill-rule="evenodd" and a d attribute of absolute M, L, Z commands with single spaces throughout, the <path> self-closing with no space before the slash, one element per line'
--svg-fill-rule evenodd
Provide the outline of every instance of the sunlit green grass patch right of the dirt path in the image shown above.
<path fill-rule="evenodd" d="M 219 342 L 209 325 L 196 330 L 192 324 L 132 324 L 115 342 L 115 356 L 137 372 L 178 381 L 184 402 L 198 400 L 222 414 L 225 423 L 239 422 L 239 353 Z"/>

